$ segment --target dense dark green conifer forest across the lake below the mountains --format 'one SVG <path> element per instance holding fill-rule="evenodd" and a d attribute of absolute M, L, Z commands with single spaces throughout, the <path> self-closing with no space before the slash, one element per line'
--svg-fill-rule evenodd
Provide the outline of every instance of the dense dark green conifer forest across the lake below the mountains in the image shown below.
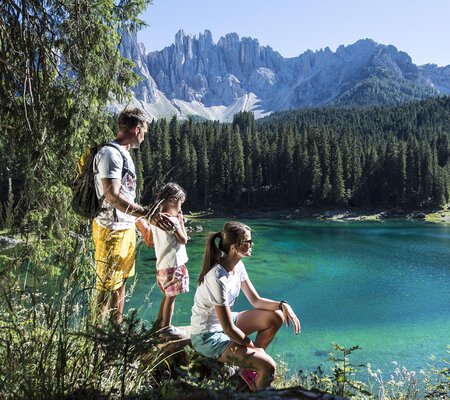
<path fill-rule="evenodd" d="M 193 209 L 421 208 L 449 201 L 450 98 L 314 108 L 232 124 L 153 121 L 135 154 L 142 200 L 174 180 Z"/>

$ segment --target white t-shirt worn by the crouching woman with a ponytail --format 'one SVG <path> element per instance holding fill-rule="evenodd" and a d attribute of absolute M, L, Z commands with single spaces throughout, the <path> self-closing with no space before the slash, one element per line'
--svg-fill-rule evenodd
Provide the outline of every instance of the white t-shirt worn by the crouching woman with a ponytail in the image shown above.
<path fill-rule="evenodd" d="M 242 261 L 236 264 L 232 273 L 228 273 L 220 264 L 214 265 L 195 292 L 191 316 L 191 333 L 222 331 L 223 328 L 215 306 L 233 308 L 234 302 L 241 291 L 241 282 L 247 279 L 247 271 Z"/>

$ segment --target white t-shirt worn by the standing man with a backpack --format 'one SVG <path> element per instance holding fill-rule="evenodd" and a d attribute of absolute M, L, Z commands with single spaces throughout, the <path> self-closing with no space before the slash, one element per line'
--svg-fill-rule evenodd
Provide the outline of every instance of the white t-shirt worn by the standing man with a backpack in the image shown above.
<path fill-rule="evenodd" d="M 117 145 L 120 148 L 120 145 Z M 125 173 L 122 178 L 123 157 L 119 151 L 126 157 L 130 173 Z M 136 197 L 136 170 L 133 159 L 126 150 L 119 150 L 111 146 L 103 146 L 94 158 L 95 190 L 97 197 L 103 196 L 103 178 L 120 179 L 122 181 L 121 193 L 134 202 Z M 133 174 L 133 175 L 132 175 Z M 107 229 L 121 230 L 134 226 L 135 217 L 111 207 L 106 200 L 102 207 L 105 209 L 96 218 L 95 221 Z"/>

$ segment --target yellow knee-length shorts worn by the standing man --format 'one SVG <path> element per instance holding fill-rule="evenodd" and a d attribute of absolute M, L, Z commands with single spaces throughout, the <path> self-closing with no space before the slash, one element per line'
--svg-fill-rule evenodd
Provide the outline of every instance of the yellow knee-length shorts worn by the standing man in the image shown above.
<path fill-rule="evenodd" d="M 96 288 L 100 291 L 117 290 L 127 278 L 134 275 L 136 231 L 115 231 L 103 228 L 95 220 L 92 224 L 95 244 Z"/>

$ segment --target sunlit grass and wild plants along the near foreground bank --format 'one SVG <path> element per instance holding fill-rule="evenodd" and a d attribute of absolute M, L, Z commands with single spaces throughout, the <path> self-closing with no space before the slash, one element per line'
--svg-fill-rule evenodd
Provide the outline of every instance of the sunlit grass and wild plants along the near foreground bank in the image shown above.
<path fill-rule="evenodd" d="M 227 384 L 226 370 L 213 370 L 189 347 L 184 355 L 162 355 L 153 325 L 135 312 L 120 326 L 95 324 L 91 246 L 90 238 L 81 235 L 64 242 L 30 240 L 0 260 L 0 398 L 144 400 L 190 391 L 202 391 L 205 398 L 225 392 L 228 398 L 238 397 Z M 31 276 L 40 284 L 30 286 Z M 321 367 L 292 372 L 279 360 L 274 385 L 366 399 L 449 397 L 450 357 L 423 372 L 399 367 L 387 379 L 381 371 L 353 365 L 356 349 L 336 345 L 326 361 L 331 372 Z M 368 381 L 357 381 L 365 371 Z"/>

